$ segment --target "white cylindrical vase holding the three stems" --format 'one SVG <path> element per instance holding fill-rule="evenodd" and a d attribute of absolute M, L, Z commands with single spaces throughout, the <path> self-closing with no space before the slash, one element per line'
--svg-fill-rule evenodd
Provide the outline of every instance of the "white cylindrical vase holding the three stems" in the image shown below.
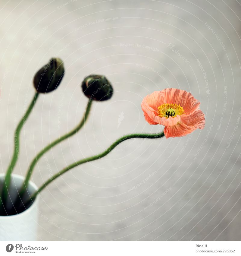
<path fill-rule="evenodd" d="M 4 174 L 0 174 L 0 188 L 4 180 Z M 11 186 L 9 189 L 9 198 L 7 204 L 11 200 L 14 201 L 17 196 L 17 190 L 20 188 L 24 177 L 13 174 Z M 28 194 L 32 194 L 37 190 L 37 186 L 30 182 L 28 186 Z M 36 241 L 36 232 L 38 226 L 38 197 L 27 210 L 22 213 L 0 216 L 0 241 Z"/>

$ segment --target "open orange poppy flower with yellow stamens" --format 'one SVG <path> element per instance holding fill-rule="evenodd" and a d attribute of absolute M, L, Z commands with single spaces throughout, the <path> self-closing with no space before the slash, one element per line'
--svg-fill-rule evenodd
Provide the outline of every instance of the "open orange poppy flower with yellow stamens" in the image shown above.
<path fill-rule="evenodd" d="M 141 103 L 150 125 L 164 125 L 166 138 L 182 137 L 196 129 L 203 129 L 205 118 L 200 102 L 184 90 L 166 88 L 147 95 Z"/>

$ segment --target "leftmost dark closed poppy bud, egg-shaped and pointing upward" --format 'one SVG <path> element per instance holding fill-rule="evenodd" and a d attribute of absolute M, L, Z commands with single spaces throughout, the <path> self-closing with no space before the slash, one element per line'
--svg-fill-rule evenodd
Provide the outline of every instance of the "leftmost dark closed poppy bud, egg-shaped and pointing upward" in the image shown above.
<path fill-rule="evenodd" d="M 60 58 L 51 58 L 48 64 L 37 71 L 33 85 L 38 93 L 48 93 L 55 90 L 64 76 L 64 63 Z"/>

